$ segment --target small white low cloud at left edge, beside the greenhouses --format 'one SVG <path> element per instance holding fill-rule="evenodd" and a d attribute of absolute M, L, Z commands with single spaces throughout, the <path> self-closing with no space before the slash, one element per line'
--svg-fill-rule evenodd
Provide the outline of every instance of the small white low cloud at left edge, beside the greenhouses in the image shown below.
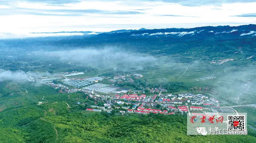
<path fill-rule="evenodd" d="M 38 76 L 50 76 L 50 73 L 39 73 L 39 72 L 23 72 L 19 71 L 10 71 L 0 69 L 0 82 L 6 80 L 25 82 L 28 81 L 29 77 L 38 77 Z"/>

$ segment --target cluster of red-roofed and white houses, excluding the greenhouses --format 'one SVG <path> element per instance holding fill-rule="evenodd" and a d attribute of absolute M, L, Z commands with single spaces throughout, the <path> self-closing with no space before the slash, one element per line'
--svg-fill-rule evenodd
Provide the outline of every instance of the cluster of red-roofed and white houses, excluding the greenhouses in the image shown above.
<path fill-rule="evenodd" d="M 209 98 L 202 94 L 184 93 L 178 95 L 161 94 L 147 96 L 146 94 L 125 94 L 125 95 L 89 95 L 95 100 L 107 99 L 104 106 L 91 105 L 86 109 L 90 112 L 106 111 L 111 113 L 111 110 L 119 110 L 121 114 L 148 114 L 160 113 L 171 115 L 175 113 L 197 112 L 220 112 L 216 109 L 219 107 L 219 101 L 214 98 Z M 230 111 L 229 111 L 230 112 Z M 200 114 L 199 114 L 200 115 Z"/>

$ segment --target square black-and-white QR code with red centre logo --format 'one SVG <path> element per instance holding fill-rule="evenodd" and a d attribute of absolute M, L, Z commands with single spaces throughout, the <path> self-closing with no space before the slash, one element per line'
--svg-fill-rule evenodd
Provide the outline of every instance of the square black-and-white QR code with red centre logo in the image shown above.
<path fill-rule="evenodd" d="M 228 130 L 244 130 L 245 115 L 228 115 Z"/>

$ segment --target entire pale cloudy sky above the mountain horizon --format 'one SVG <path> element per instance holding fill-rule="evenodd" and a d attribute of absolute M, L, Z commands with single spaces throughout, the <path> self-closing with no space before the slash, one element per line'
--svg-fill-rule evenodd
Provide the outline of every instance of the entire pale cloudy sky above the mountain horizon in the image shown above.
<path fill-rule="evenodd" d="M 256 0 L 0 0 L 0 37 L 256 24 L 255 7 Z"/>

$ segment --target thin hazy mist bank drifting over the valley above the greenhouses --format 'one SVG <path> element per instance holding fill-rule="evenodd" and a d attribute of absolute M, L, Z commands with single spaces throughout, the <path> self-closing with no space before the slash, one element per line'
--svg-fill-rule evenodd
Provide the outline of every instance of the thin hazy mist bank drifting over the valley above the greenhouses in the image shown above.
<path fill-rule="evenodd" d="M 136 69 L 143 68 L 147 63 L 154 64 L 157 59 L 148 54 L 132 54 L 124 52 L 120 48 L 101 48 L 101 49 L 74 49 L 66 51 L 41 52 L 44 57 L 57 58 L 64 62 L 74 62 L 76 64 L 96 67 L 97 69 L 127 70 L 131 67 Z M 125 66 L 120 67 L 125 64 Z"/>

